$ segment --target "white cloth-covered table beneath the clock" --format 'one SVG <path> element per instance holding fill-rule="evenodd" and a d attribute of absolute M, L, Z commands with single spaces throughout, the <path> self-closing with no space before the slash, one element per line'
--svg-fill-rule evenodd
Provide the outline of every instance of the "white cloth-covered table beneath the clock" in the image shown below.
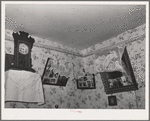
<path fill-rule="evenodd" d="M 44 104 L 41 76 L 24 70 L 5 72 L 5 101 Z"/>

